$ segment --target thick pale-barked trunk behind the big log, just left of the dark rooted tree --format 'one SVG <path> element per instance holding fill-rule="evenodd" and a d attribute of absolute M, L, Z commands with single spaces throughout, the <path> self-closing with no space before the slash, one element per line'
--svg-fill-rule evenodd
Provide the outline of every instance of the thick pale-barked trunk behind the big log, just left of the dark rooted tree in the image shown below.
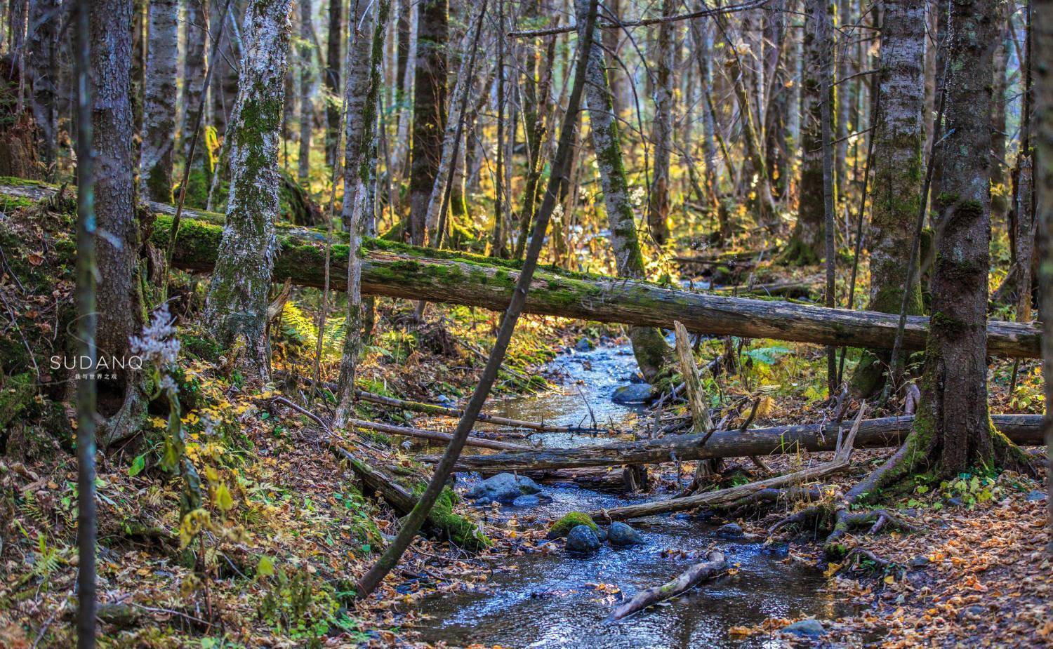
<path fill-rule="evenodd" d="M 910 269 L 914 222 L 921 208 L 925 142 L 925 6 L 912 0 L 886 0 L 881 26 L 880 117 L 874 138 L 873 207 L 870 242 L 870 305 L 873 311 L 898 313 L 907 278 L 907 312 L 921 313 L 917 261 Z M 880 362 L 878 361 L 880 359 Z M 863 357 L 853 390 L 869 397 L 880 387 L 888 354 Z"/>

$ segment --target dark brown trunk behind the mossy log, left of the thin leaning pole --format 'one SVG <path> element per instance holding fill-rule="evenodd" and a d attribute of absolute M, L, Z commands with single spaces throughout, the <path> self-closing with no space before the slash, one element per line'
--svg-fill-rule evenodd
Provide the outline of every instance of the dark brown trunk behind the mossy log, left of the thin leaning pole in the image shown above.
<path fill-rule="evenodd" d="M 446 123 L 446 43 L 449 0 L 418 4 L 417 69 L 413 101 L 413 162 L 410 173 L 410 241 L 424 243 L 428 199 L 442 155 Z"/>

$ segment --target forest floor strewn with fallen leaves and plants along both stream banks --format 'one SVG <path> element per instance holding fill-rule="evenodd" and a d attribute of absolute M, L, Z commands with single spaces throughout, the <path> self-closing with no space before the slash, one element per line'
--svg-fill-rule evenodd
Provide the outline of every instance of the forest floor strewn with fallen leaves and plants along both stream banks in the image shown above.
<path fill-rule="evenodd" d="M 793 273 L 802 277 L 799 270 Z M 754 278 L 770 283 L 780 279 L 786 278 Z M 32 300 L 20 303 L 26 297 L 14 290 L 5 299 L 16 312 L 32 313 L 67 296 L 71 286 L 68 277 L 58 279 L 36 306 Z M 193 312 L 202 289 L 192 283 L 186 290 L 184 306 Z M 317 291 L 314 297 L 296 293 L 272 329 L 276 369 L 312 376 L 316 298 Z M 366 349 L 358 386 L 400 399 L 463 403 L 490 348 L 497 315 L 433 305 L 428 324 L 419 326 L 408 321 L 410 308 L 403 303 L 395 310 L 390 302 L 381 303 L 381 333 Z M 48 318 L 28 318 L 23 326 L 31 340 L 54 340 L 53 331 L 43 330 Z M 195 328 L 193 318 L 180 327 L 181 419 L 187 454 L 207 490 L 208 515 L 191 528 L 180 526 L 179 481 L 168 479 L 157 464 L 166 411 L 152 413 L 154 430 L 102 457 L 97 481 L 100 646 L 414 645 L 419 622 L 415 603 L 436 591 L 485 582 L 492 567 L 510 556 L 540 551 L 544 530 L 492 525 L 484 511 L 459 504 L 456 511 L 478 522 L 493 547 L 470 554 L 441 539 L 421 540 L 376 596 L 356 603 L 354 585 L 394 533 L 397 514 L 359 490 L 353 471 L 333 454 L 310 418 L 274 401 L 279 390 L 296 400 L 302 384 L 266 390 L 245 386 L 224 369 L 224 360 Z M 342 319 L 333 317 L 323 338 L 326 376 L 336 376 L 341 327 Z M 545 389 L 539 368 L 576 340 L 603 334 L 618 337 L 620 330 L 523 319 L 498 393 Z M 721 350 L 722 341 L 702 344 L 703 354 Z M 724 402 L 761 400 L 755 426 L 829 417 L 822 350 L 751 341 L 739 351 L 737 373 L 717 387 Z M 1021 366 L 1012 398 L 1010 371 L 1006 362 L 993 367 L 992 411 L 1040 411 L 1037 363 Z M 29 409 L 47 411 L 37 400 Z M 318 413 L 324 417 L 329 406 L 321 403 Z M 397 424 L 415 420 L 414 412 L 364 403 L 358 413 Z M 5 434 L 7 452 L 0 457 L 0 647 L 71 647 L 77 571 L 71 430 L 41 417 L 14 422 Z M 352 445 L 363 453 L 380 448 L 377 460 L 413 468 L 408 446 L 386 435 L 358 435 Z M 852 470 L 829 484 L 847 489 L 889 452 L 857 451 Z M 768 462 L 775 470 L 789 470 L 827 457 L 802 453 Z M 752 467 L 741 463 L 729 463 L 728 471 L 736 466 L 741 474 L 752 474 Z M 658 472 L 671 468 L 663 465 Z M 966 474 L 949 484 L 918 482 L 885 504 L 901 510 L 920 531 L 850 539 L 880 564 L 830 564 L 810 536 L 794 539 L 787 561 L 820 566 L 831 595 L 856 603 L 858 612 L 827 623 L 820 638 L 780 633 L 794 622 L 780 618 L 735 627 L 732 636 L 766 634 L 773 645 L 851 646 L 866 636 L 880 637 L 874 644 L 890 648 L 1049 646 L 1053 593 L 1050 554 L 1045 552 L 1050 543 L 1047 503 L 1039 498 L 1044 490 L 1039 482 L 1008 472 Z M 743 512 L 738 522 L 748 532 L 759 533 L 778 515 Z"/>

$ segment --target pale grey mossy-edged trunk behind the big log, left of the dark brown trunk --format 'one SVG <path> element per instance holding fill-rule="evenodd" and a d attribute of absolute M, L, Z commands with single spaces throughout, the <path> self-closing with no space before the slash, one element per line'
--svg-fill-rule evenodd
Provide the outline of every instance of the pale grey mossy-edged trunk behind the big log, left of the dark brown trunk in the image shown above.
<path fill-rule="evenodd" d="M 354 21 L 347 25 L 347 79 L 344 83 L 343 105 L 344 115 L 344 143 L 343 143 L 343 205 L 340 210 L 340 220 L 343 222 L 344 231 L 352 231 L 352 217 L 358 207 L 359 190 L 359 162 L 365 153 L 362 149 L 363 143 L 367 144 L 370 139 L 363 139 L 362 133 L 373 133 L 372 124 L 365 123 L 366 97 L 370 93 L 370 56 L 373 50 L 373 26 L 377 13 L 373 4 L 369 2 L 355 2 L 352 4 L 351 16 Z M 373 110 L 376 116 L 376 110 Z M 364 186 L 364 185 L 363 185 Z"/>

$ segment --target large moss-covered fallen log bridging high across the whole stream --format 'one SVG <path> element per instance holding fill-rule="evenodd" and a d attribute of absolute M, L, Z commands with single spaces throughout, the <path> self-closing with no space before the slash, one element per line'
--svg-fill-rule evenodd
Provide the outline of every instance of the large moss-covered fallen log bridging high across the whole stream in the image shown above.
<path fill-rule="evenodd" d="M 0 192 L 4 188 L 0 186 Z M 199 212 L 215 221 L 219 215 Z M 173 264 L 184 270 L 208 271 L 216 263 L 222 226 L 187 214 L 179 226 Z M 0 226 L 9 216 L 0 217 Z M 151 240 L 165 247 L 172 218 L 158 215 Z M 334 235 L 330 287 L 344 290 L 347 239 Z M 366 239 L 362 242 L 362 292 L 388 298 L 426 300 L 503 310 L 519 275 L 517 262 L 477 255 L 434 250 Z M 278 226 L 273 280 L 321 287 L 325 279 L 325 234 Z M 525 311 L 637 326 L 669 327 L 679 320 L 689 330 L 712 336 L 771 338 L 838 347 L 891 348 L 896 313 L 832 309 L 775 300 L 751 300 L 696 293 L 638 282 L 538 268 Z M 905 349 L 923 349 L 929 319 L 910 317 Z M 1011 358 L 1039 358 L 1039 329 L 1029 324 L 988 322 L 988 352 Z"/>

